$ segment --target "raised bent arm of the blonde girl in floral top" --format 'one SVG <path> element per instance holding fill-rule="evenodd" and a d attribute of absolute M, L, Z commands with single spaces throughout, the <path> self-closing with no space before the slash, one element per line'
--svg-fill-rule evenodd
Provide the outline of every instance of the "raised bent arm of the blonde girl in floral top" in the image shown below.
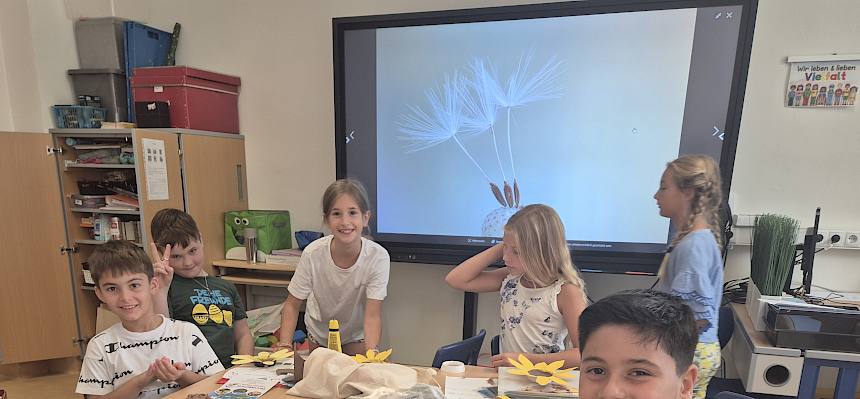
<path fill-rule="evenodd" d="M 484 270 L 493 262 L 502 259 L 503 244 L 496 244 L 487 250 L 466 259 L 445 276 L 445 282 L 458 290 L 469 292 L 493 292 L 502 288 L 502 281 L 508 276 L 506 267 L 498 270 Z"/>

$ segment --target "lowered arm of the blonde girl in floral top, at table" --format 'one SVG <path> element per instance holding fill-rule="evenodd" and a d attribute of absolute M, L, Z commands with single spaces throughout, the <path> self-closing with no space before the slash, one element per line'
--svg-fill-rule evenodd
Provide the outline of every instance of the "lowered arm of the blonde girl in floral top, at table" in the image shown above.
<path fill-rule="evenodd" d="M 567 326 L 567 336 L 572 342 L 572 347 L 558 353 L 522 353 L 532 363 L 552 363 L 563 360 L 564 365 L 561 367 L 570 368 L 579 366 L 582 362 L 582 354 L 579 352 L 578 337 L 579 337 L 579 315 L 585 310 L 587 304 L 582 295 L 582 290 L 573 284 L 564 284 L 561 286 L 561 291 L 558 293 L 558 310 L 564 319 L 564 324 Z M 500 353 L 493 356 L 493 367 L 510 366 L 508 359 L 517 360 L 520 353 Z"/>

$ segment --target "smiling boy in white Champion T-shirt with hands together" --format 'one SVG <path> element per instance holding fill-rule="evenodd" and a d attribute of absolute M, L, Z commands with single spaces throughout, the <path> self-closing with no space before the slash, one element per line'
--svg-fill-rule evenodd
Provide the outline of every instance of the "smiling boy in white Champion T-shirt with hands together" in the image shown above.
<path fill-rule="evenodd" d="M 87 344 L 75 392 L 90 398 L 160 398 L 224 370 L 196 326 L 154 312 L 158 281 L 143 249 L 108 241 L 88 262 L 96 296 L 120 323 Z"/>

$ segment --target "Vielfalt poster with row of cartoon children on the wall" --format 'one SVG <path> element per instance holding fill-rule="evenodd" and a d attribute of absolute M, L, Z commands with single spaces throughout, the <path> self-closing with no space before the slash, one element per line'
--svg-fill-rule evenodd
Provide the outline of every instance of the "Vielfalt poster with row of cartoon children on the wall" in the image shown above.
<path fill-rule="evenodd" d="M 857 99 L 860 60 L 807 61 L 789 58 L 786 107 L 853 107 Z M 793 60 L 802 62 L 793 62 Z"/>

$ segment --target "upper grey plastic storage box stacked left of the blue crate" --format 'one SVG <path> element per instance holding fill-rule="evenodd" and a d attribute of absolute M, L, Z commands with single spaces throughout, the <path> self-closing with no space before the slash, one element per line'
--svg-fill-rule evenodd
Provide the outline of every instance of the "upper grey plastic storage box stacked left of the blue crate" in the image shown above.
<path fill-rule="evenodd" d="M 123 23 L 116 17 L 75 21 L 75 43 L 81 68 L 123 69 L 125 39 Z"/>

